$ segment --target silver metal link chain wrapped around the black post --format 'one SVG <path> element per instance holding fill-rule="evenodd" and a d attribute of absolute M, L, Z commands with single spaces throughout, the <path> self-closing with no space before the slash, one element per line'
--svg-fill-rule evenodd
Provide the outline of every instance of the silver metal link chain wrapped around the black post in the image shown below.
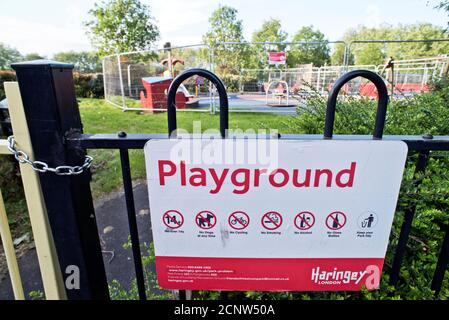
<path fill-rule="evenodd" d="M 17 149 L 14 136 L 9 136 L 7 141 L 8 150 L 14 155 L 14 158 L 20 163 L 29 164 L 31 168 L 37 172 L 53 172 L 59 176 L 71 176 L 81 174 L 92 165 L 93 158 L 86 155 L 82 166 L 58 166 L 56 168 L 51 168 L 45 162 L 30 160 L 30 157 L 24 151 Z"/>

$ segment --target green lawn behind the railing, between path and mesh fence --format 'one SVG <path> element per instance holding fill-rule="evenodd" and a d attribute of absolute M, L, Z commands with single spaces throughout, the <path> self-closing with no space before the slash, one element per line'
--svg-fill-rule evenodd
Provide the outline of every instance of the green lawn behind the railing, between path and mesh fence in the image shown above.
<path fill-rule="evenodd" d="M 99 99 L 80 99 L 81 119 L 85 133 L 166 133 L 167 114 L 141 114 L 137 111 L 123 112 Z M 218 129 L 219 115 L 203 112 L 179 112 L 178 128 L 192 131 L 193 122 L 201 121 L 201 130 Z M 230 129 L 277 129 L 281 133 L 289 132 L 290 117 L 267 113 L 231 113 Z M 291 127 L 291 126 L 290 126 Z M 290 129 L 291 130 L 291 129 Z M 94 198 L 111 192 L 121 186 L 120 159 L 118 150 L 88 150 L 94 157 L 92 166 L 92 193 Z M 130 150 L 130 162 L 133 179 L 145 177 L 143 150 Z"/>

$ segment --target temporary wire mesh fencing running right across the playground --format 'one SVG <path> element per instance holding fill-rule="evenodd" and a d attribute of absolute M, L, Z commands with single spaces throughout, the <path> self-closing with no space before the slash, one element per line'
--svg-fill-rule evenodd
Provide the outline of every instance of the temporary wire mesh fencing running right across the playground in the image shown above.
<path fill-rule="evenodd" d="M 392 98 L 429 90 L 429 83 L 448 69 L 449 39 L 434 40 L 369 40 L 323 42 L 223 42 L 212 48 L 207 45 L 162 48 L 111 55 L 103 60 L 105 99 L 122 110 L 158 112 L 165 109 L 166 91 L 170 79 L 180 71 L 205 68 L 220 76 L 230 95 L 231 112 L 275 112 L 295 114 L 297 100 L 311 93 L 327 95 L 332 83 L 345 72 L 367 69 L 381 74 L 391 87 Z M 400 46 L 439 45 L 442 56 L 418 59 L 395 57 L 393 68 L 382 65 L 355 65 L 354 56 L 363 46 L 378 46 L 385 53 L 401 52 Z M 342 46 L 341 65 L 295 65 L 294 68 L 272 67 L 268 64 L 270 51 L 285 51 L 289 64 L 295 60 L 298 49 L 313 50 L 316 46 Z M 421 48 L 419 47 L 419 48 Z M 419 49 L 418 48 L 418 49 Z M 446 50 L 448 49 L 448 50 Z M 434 50 L 435 51 L 435 50 Z M 446 55 L 445 55 L 446 54 Z M 220 59 L 218 57 L 221 57 Z M 224 58 L 223 58 L 224 57 Z M 223 61 L 221 61 L 223 60 Z M 253 65 L 254 68 L 229 69 L 233 64 Z M 248 61 L 247 61 L 248 60 Z M 237 62 L 236 62 L 237 61 Z M 173 64 L 173 65 L 172 65 Z M 199 81 L 201 80 L 201 81 Z M 268 90 L 267 90 L 268 89 Z M 374 97 L 372 85 L 355 80 L 345 92 Z M 178 97 L 180 111 L 218 110 L 218 101 L 210 83 L 190 79 L 181 87 Z M 295 102 L 296 101 L 296 102 Z M 275 108 L 284 107 L 284 108 Z"/>

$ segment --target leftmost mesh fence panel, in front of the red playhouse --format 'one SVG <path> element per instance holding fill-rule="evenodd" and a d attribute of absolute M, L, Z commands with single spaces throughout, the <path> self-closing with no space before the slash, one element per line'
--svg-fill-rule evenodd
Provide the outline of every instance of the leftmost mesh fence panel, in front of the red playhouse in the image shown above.
<path fill-rule="evenodd" d="M 148 103 L 155 111 L 165 109 L 167 99 L 164 91 L 171 82 L 170 78 L 194 67 L 212 69 L 212 52 L 208 46 L 170 47 L 107 56 L 103 60 L 105 99 L 123 111 L 149 110 Z M 190 111 L 210 111 L 208 83 L 202 87 L 201 101 Z M 183 89 L 186 98 L 192 97 L 196 94 L 196 83 L 191 81 Z"/>

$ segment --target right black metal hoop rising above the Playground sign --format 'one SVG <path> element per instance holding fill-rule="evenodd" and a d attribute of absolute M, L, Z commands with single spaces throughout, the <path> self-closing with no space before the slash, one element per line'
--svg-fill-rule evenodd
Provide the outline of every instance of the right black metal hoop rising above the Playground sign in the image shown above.
<path fill-rule="evenodd" d="M 387 115 L 388 90 L 382 77 L 380 77 L 377 73 L 369 70 L 350 71 L 345 73 L 335 81 L 334 86 L 329 94 L 329 98 L 327 99 L 326 120 L 324 126 L 325 139 L 332 139 L 332 135 L 334 132 L 335 109 L 337 106 L 338 93 L 347 82 L 357 77 L 368 79 L 376 86 L 378 103 L 373 139 L 382 139 L 382 134 L 385 126 L 385 117 Z"/>

